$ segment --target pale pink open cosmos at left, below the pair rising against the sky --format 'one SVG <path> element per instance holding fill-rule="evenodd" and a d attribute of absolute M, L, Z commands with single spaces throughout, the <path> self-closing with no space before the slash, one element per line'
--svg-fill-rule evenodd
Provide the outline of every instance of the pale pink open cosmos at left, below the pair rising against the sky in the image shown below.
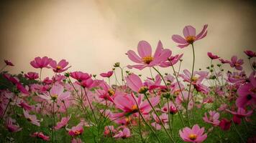
<path fill-rule="evenodd" d="M 46 99 L 47 101 L 62 101 L 70 97 L 70 92 L 64 92 L 64 87 L 60 84 L 55 84 L 50 89 L 50 92 L 45 94 L 39 94 L 39 97 Z"/>

